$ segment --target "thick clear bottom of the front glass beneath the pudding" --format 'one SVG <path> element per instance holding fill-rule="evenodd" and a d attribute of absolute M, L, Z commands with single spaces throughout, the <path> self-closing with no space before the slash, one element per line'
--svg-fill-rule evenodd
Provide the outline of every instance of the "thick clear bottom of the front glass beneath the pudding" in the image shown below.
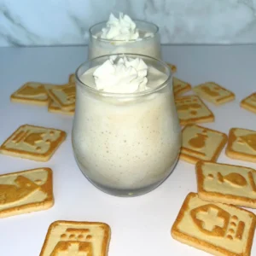
<path fill-rule="evenodd" d="M 178 158 L 177 158 L 178 159 Z M 140 188 L 140 189 L 113 189 L 113 188 L 109 188 L 107 186 L 104 186 L 100 183 L 96 183 L 95 181 L 91 180 L 90 177 L 88 177 L 84 171 L 82 170 L 79 161 L 77 160 L 77 158 L 75 157 L 75 160 L 79 166 L 80 171 L 84 174 L 84 177 L 86 177 L 90 183 L 92 183 L 97 189 L 101 190 L 102 192 L 108 194 L 108 195 L 114 195 L 114 196 L 119 196 L 119 197 L 135 197 L 135 196 L 139 196 L 139 195 L 145 195 L 149 192 L 151 192 L 152 190 L 156 189 L 158 186 L 160 186 L 161 183 L 163 183 L 167 177 L 169 177 L 173 170 L 175 169 L 175 166 L 177 165 L 177 159 L 175 161 L 175 163 L 172 165 L 171 172 L 168 173 L 168 175 L 166 177 L 164 177 L 162 180 L 160 180 L 160 182 L 158 183 L 153 183 L 150 184 L 146 187 Z"/>

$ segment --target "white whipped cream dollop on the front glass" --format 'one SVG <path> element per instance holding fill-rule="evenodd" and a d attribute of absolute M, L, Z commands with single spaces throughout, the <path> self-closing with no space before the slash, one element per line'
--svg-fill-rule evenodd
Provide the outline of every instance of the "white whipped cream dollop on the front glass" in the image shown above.
<path fill-rule="evenodd" d="M 147 90 L 148 66 L 140 59 L 112 55 L 93 73 L 96 89 L 112 93 Z"/>

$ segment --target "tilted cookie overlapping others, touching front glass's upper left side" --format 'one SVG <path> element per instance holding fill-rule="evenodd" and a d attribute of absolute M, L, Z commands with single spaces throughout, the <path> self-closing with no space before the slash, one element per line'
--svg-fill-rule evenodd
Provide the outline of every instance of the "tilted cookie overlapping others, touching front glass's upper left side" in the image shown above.
<path fill-rule="evenodd" d="M 75 108 L 76 87 L 72 84 L 51 88 L 48 90 L 48 93 L 50 98 L 58 104 L 61 109 L 68 111 Z"/>

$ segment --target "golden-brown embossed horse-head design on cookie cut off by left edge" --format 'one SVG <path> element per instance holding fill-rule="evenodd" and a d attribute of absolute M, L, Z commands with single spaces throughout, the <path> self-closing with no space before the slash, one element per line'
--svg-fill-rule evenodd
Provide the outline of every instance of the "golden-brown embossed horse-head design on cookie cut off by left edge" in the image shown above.
<path fill-rule="evenodd" d="M 24 176 L 16 177 L 14 185 L 0 183 L 0 206 L 23 200 L 38 189 L 38 184 Z"/>

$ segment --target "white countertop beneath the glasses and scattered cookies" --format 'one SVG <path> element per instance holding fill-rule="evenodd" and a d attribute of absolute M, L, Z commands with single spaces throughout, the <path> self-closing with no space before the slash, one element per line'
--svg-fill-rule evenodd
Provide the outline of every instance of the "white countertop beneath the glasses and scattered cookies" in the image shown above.
<path fill-rule="evenodd" d="M 256 91 L 256 45 L 164 46 L 162 50 L 165 61 L 177 65 L 177 78 L 193 85 L 212 80 L 236 93 L 236 101 L 218 108 L 207 103 L 216 120 L 201 125 L 226 133 L 235 126 L 256 130 L 256 114 L 239 107 L 242 98 Z M 0 48 L 0 143 L 23 124 L 67 131 L 66 142 L 48 162 L 0 154 L 1 174 L 52 168 L 55 194 L 55 205 L 47 211 L 0 219 L 0 254 L 38 255 L 49 224 L 61 219 L 109 224 L 109 256 L 209 255 L 173 240 L 170 232 L 185 196 L 196 192 L 195 166 L 180 161 L 166 182 L 146 195 L 119 198 L 104 194 L 86 180 L 73 158 L 73 117 L 9 101 L 11 93 L 27 81 L 66 83 L 86 56 L 85 47 Z M 256 168 L 253 163 L 230 160 L 224 152 L 218 162 Z M 252 255 L 256 255 L 256 236 Z"/>

